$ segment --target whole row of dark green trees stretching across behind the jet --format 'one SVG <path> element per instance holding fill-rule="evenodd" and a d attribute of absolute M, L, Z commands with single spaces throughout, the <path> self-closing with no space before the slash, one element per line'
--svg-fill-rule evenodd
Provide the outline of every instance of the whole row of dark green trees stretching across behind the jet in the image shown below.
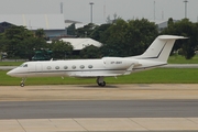
<path fill-rule="evenodd" d="M 91 37 L 101 42 L 101 47 L 87 46 L 78 55 L 74 55 L 70 43 L 54 40 L 46 43 L 43 29 L 35 32 L 29 31 L 24 26 L 11 26 L 0 33 L 0 53 L 7 53 L 9 58 L 29 58 L 34 56 L 35 51 L 50 50 L 52 57 L 63 58 L 98 58 L 102 56 L 133 56 L 142 54 L 154 38 L 162 34 L 183 35 L 188 40 L 179 40 L 175 44 L 172 53 L 179 53 L 187 59 L 195 56 L 198 48 L 198 23 L 193 23 L 188 19 L 174 22 L 168 20 L 167 28 L 158 30 L 154 22 L 146 19 L 129 20 L 117 19 L 113 23 L 96 25 L 89 23 L 84 28 L 75 29 L 72 24 L 68 34 L 77 37 Z"/>

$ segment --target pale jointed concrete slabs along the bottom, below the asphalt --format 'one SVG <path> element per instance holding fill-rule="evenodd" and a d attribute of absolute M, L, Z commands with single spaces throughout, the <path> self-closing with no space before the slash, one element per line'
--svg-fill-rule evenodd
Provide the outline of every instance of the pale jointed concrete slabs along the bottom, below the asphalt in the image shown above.
<path fill-rule="evenodd" d="M 198 118 L 0 120 L 1 132 L 197 131 Z"/>

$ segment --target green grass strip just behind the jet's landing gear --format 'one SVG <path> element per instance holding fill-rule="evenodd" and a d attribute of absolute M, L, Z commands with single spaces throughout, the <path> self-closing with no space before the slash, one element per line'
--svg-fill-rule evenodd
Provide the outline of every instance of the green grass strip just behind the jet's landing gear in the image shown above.
<path fill-rule="evenodd" d="M 0 86 L 18 86 L 21 78 L 9 77 L 6 70 L 0 70 Z M 107 77 L 108 84 L 198 84 L 198 69 L 196 68 L 156 68 L 134 73 L 128 76 Z M 96 78 L 43 77 L 28 78 L 25 85 L 82 85 L 96 84 Z"/>

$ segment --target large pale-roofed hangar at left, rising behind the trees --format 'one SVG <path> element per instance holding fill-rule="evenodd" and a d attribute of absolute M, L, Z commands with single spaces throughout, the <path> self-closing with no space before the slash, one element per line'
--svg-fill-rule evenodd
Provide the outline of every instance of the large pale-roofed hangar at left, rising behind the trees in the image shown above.
<path fill-rule="evenodd" d="M 22 25 L 28 30 L 43 29 L 46 36 L 66 36 L 64 14 L 0 14 L 0 32 L 10 25 Z"/>

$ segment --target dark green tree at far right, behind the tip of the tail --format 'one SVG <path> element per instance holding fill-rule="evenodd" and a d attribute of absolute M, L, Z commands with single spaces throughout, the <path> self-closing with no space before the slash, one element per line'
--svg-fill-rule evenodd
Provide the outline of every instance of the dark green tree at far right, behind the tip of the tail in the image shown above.
<path fill-rule="evenodd" d="M 186 59 L 195 56 L 195 51 L 198 45 L 198 26 L 196 23 L 190 22 L 188 19 L 169 24 L 162 34 L 173 34 L 189 37 L 188 40 L 179 40 L 176 42 L 173 51 L 182 48 L 183 55 Z"/>

